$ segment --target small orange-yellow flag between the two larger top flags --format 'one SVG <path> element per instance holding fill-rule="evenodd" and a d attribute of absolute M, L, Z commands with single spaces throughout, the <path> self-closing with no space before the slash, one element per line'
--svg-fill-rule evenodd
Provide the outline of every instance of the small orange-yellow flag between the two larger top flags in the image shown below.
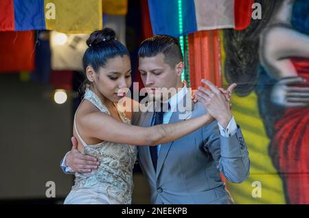
<path fill-rule="evenodd" d="M 128 0 L 102 0 L 104 14 L 126 15 L 128 12 Z"/>

